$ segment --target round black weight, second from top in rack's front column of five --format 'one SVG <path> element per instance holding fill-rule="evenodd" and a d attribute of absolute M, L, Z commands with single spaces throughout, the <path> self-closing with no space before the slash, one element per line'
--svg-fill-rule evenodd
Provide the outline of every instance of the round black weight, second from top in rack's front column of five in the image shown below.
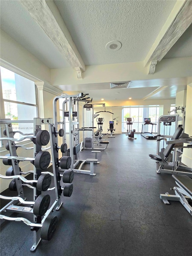
<path fill-rule="evenodd" d="M 40 170 L 45 170 L 51 161 L 51 155 L 48 151 L 40 151 L 35 157 L 35 167 Z"/>

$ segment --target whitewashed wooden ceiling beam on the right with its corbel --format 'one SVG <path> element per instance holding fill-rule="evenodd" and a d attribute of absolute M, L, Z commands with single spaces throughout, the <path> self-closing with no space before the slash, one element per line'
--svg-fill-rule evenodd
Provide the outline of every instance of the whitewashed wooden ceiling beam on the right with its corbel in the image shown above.
<path fill-rule="evenodd" d="M 177 1 L 144 60 L 144 67 L 148 66 L 148 74 L 155 72 L 153 64 L 163 59 L 191 23 L 192 1 Z"/>

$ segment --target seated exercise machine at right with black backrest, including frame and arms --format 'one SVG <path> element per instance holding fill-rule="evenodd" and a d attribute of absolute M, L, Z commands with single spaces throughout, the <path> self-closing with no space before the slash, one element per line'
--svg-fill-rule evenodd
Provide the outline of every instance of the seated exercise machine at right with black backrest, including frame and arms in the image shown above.
<path fill-rule="evenodd" d="M 173 137 L 171 138 L 171 140 L 166 141 L 168 143 L 166 149 L 164 150 L 163 154 L 164 154 L 164 158 L 161 158 L 161 156 L 159 155 L 153 155 L 153 154 L 149 154 L 149 156 L 153 159 L 156 160 L 157 162 L 160 162 L 161 165 L 159 167 L 159 169 L 157 170 L 157 173 L 168 173 L 168 174 L 181 174 L 181 175 L 187 175 L 192 177 L 192 170 L 189 167 L 186 166 L 181 166 L 178 163 L 174 163 L 173 164 L 173 168 L 172 170 L 168 170 L 168 169 L 164 169 L 164 165 L 169 165 L 170 162 L 170 158 L 172 158 L 171 155 L 171 151 L 174 150 L 174 153 L 176 152 L 176 148 L 181 147 L 181 148 L 191 148 L 192 144 L 189 144 L 187 146 L 182 146 L 181 144 L 178 143 L 188 143 L 192 141 L 192 138 L 188 136 L 188 134 L 183 133 L 183 128 L 178 127 L 175 131 L 175 133 L 173 134 Z M 182 135 L 181 135 L 182 134 Z M 160 136 L 160 135 L 158 135 Z M 161 138 L 160 140 L 163 140 L 165 138 Z M 175 156 L 173 157 L 173 159 L 175 159 Z M 184 171 L 178 171 L 178 168 L 182 168 L 182 170 L 188 170 L 190 172 L 184 172 Z"/>

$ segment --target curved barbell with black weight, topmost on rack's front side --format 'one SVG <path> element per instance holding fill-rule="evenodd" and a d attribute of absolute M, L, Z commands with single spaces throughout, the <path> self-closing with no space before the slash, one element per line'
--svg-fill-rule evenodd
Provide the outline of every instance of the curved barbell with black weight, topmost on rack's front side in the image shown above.
<path fill-rule="evenodd" d="M 13 134 L 15 133 L 18 133 L 19 131 L 14 131 Z M 20 134 L 23 135 L 23 133 L 19 132 Z M 3 131 L 3 134 L 5 136 L 7 136 L 6 134 L 6 130 Z M 45 146 L 49 143 L 49 139 L 50 139 L 50 135 L 49 135 L 49 132 L 46 131 L 46 130 L 40 130 L 38 131 L 37 135 L 36 136 L 30 136 L 30 135 L 26 135 L 24 137 L 21 137 L 20 139 L 16 139 L 16 138 L 0 138 L 0 140 L 11 140 L 11 141 L 22 141 L 22 140 L 25 140 L 29 138 L 30 140 L 34 140 L 36 139 L 36 142 L 38 145 L 40 146 Z"/>

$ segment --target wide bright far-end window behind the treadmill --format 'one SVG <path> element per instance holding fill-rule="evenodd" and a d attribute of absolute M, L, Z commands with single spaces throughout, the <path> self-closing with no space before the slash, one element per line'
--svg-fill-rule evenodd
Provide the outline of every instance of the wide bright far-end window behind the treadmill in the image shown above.
<path fill-rule="evenodd" d="M 152 123 L 158 123 L 159 118 L 159 106 L 149 106 L 149 107 L 127 107 L 122 109 L 122 132 L 127 132 L 127 117 L 132 118 L 132 129 L 136 132 L 141 132 L 142 123 L 144 118 L 151 118 Z M 149 127 L 150 126 L 150 127 Z M 152 128 L 151 125 L 147 125 L 147 131 Z M 153 132 L 157 131 L 157 125 L 154 125 Z"/>

